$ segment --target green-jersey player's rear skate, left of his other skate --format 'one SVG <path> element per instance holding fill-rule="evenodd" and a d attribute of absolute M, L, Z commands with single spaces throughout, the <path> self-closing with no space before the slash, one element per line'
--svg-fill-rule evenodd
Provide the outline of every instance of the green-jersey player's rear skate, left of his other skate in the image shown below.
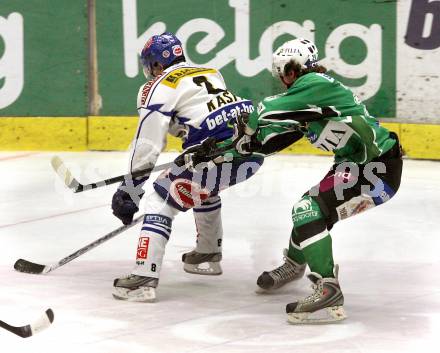
<path fill-rule="evenodd" d="M 266 293 L 278 289 L 285 284 L 296 281 L 304 276 L 306 265 L 300 265 L 287 257 L 284 249 L 284 264 L 272 271 L 264 271 L 257 279 L 257 293 Z"/>

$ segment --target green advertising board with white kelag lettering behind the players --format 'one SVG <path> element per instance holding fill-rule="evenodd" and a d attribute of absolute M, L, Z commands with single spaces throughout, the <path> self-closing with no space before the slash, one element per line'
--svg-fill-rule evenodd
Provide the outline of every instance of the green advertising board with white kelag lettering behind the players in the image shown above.
<path fill-rule="evenodd" d="M 273 50 L 308 38 L 372 113 L 396 114 L 395 2 L 110 0 L 97 2 L 97 24 L 103 115 L 135 112 L 145 81 L 138 53 L 164 31 L 177 34 L 189 61 L 220 69 L 232 91 L 256 101 L 281 89 L 270 74 Z"/>

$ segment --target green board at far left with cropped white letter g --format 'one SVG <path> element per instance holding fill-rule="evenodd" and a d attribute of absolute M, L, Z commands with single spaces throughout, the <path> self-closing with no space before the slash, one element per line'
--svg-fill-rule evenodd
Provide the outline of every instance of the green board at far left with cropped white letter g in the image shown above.
<path fill-rule="evenodd" d="M 0 2 L 0 116 L 87 114 L 86 5 Z"/>

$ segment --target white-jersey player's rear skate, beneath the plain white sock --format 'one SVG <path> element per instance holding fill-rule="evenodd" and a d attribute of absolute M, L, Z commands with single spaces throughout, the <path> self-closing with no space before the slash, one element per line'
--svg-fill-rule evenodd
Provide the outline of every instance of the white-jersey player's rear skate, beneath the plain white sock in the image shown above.
<path fill-rule="evenodd" d="M 203 254 L 193 250 L 182 255 L 184 271 L 196 275 L 221 275 L 223 273 L 221 260 L 220 252 Z"/>

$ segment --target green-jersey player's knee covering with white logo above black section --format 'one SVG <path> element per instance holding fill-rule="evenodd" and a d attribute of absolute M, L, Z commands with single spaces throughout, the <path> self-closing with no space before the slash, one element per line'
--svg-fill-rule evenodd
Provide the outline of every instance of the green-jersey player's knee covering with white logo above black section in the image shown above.
<path fill-rule="evenodd" d="M 327 223 L 318 202 L 308 195 L 304 195 L 293 205 L 292 220 L 294 227 L 292 240 L 298 246 L 327 229 Z"/>

